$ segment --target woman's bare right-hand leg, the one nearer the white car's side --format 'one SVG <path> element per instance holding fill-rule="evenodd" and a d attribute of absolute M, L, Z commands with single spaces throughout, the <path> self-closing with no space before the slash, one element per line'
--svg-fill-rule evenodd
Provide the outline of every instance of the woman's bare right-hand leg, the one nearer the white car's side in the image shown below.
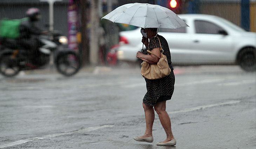
<path fill-rule="evenodd" d="M 173 133 L 171 132 L 171 121 L 168 113 L 166 112 L 166 101 L 157 102 L 154 108 L 159 116 L 164 131 L 166 132 L 167 138 L 166 140 L 163 141 L 163 143 L 173 140 L 174 136 Z"/>

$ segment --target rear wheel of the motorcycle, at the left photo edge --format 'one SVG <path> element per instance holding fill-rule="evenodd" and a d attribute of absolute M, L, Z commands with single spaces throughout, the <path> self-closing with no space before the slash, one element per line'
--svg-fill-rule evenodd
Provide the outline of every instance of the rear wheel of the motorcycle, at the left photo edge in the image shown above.
<path fill-rule="evenodd" d="M 12 54 L 0 56 L 0 73 L 7 77 L 13 77 L 20 72 L 20 66 L 17 59 Z"/>

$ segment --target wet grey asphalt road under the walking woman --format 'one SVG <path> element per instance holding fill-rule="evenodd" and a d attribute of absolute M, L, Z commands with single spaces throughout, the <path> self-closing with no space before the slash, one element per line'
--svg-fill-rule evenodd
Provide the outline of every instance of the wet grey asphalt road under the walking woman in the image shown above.
<path fill-rule="evenodd" d="M 237 66 L 175 67 L 167 102 L 176 147 L 160 147 L 144 133 L 138 67 L 83 69 L 73 77 L 32 71 L 0 76 L 0 149 L 255 149 L 256 73 Z"/>

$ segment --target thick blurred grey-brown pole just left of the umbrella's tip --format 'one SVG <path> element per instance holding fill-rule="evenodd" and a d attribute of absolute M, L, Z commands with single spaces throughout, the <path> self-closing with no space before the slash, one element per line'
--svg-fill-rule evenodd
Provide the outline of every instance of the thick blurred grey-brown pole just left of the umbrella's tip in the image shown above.
<path fill-rule="evenodd" d="M 97 32 L 99 28 L 99 0 L 92 0 L 90 2 L 90 64 L 97 65 L 99 60 L 99 36 Z"/>

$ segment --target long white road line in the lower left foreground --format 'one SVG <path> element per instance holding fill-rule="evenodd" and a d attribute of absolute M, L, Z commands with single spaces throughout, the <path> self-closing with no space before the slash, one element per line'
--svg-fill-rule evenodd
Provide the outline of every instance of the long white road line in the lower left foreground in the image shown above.
<path fill-rule="evenodd" d="M 45 135 L 45 136 L 41 136 L 41 137 L 28 138 L 28 139 L 19 140 L 19 141 L 12 142 L 12 143 L 0 145 L 0 149 L 1 148 L 6 148 L 6 147 L 11 147 L 11 146 L 14 146 L 14 145 L 27 143 L 27 142 L 31 142 L 31 141 L 37 140 L 37 139 L 42 140 L 42 139 L 45 139 L 45 138 L 52 138 L 52 137 L 57 137 L 57 136 L 62 136 L 62 135 L 67 135 L 67 134 L 72 134 L 72 133 L 92 131 L 92 130 L 97 130 L 97 129 L 101 129 L 101 128 L 113 127 L 113 126 L 114 125 L 102 125 L 102 126 L 83 128 L 83 129 L 74 130 L 74 131 L 70 131 L 70 132 L 63 132 L 63 133 L 58 133 L 58 134 Z"/>

